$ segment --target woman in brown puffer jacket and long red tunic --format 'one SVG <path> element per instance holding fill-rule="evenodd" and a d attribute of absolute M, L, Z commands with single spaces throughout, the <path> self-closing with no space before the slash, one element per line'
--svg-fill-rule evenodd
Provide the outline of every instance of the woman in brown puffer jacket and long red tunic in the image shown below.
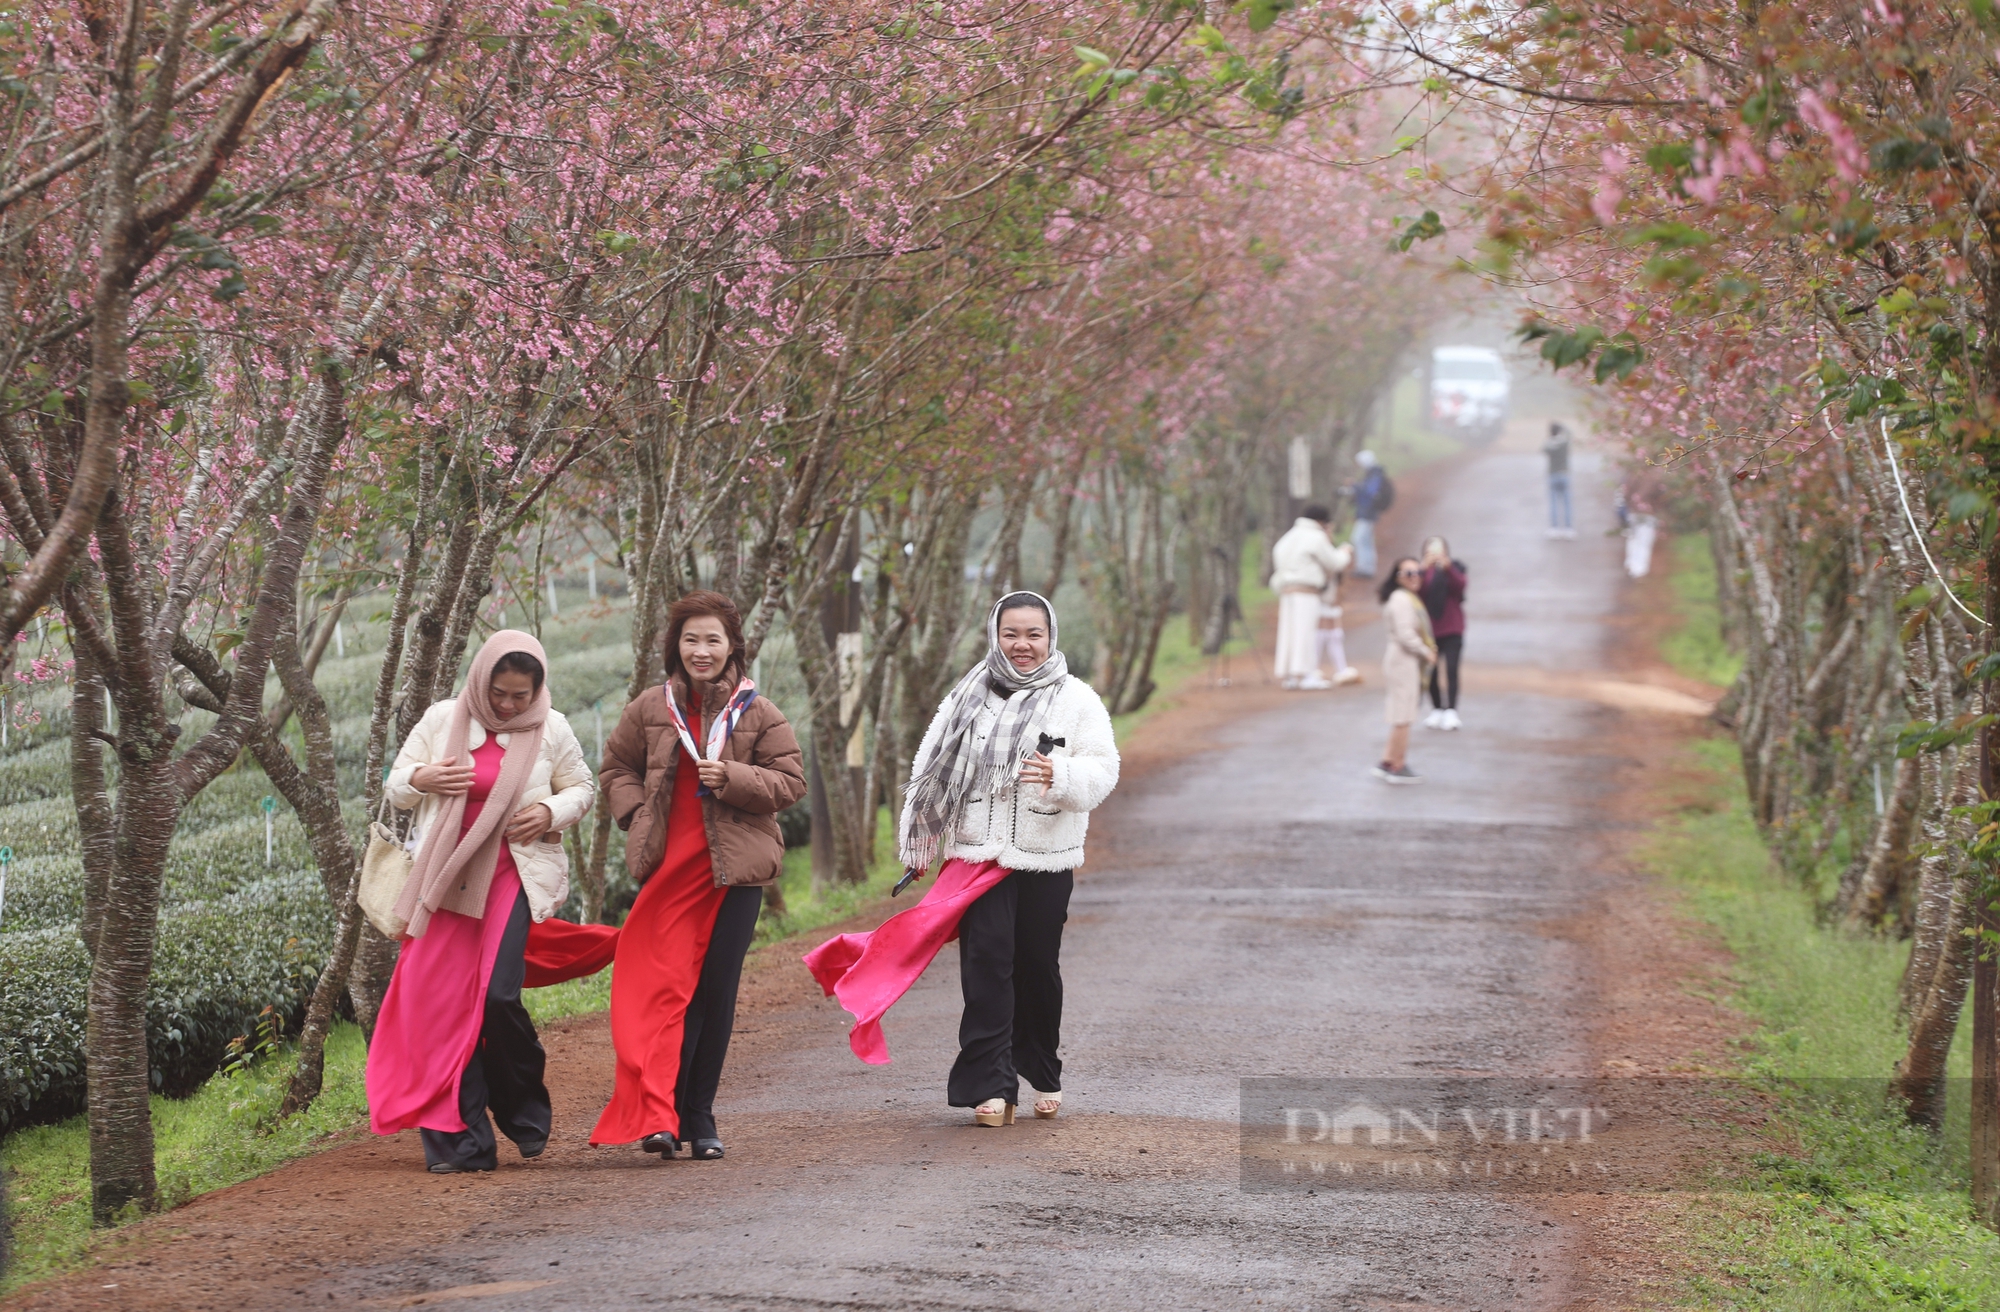
<path fill-rule="evenodd" d="M 642 888 L 612 970 L 618 1084 L 590 1142 L 638 1140 L 664 1160 L 686 1140 L 714 1160 L 736 982 L 784 860 L 778 812 L 806 794 L 790 722 L 744 678 L 730 598 L 674 602 L 666 684 L 626 704 L 600 780 Z"/>

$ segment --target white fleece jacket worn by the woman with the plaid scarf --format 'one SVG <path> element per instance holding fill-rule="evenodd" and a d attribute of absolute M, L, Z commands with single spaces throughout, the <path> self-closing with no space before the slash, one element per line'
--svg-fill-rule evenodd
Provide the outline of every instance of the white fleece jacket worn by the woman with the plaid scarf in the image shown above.
<path fill-rule="evenodd" d="M 986 706 L 972 722 L 974 742 L 986 742 L 1004 704 L 1006 698 L 998 692 L 986 694 Z M 924 732 L 918 760 L 930 750 L 942 724 L 940 708 Z M 972 798 L 944 856 L 968 862 L 996 860 L 1008 870 L 1076 870 L 1084 864 L 1090 812 L 1118 786 L 1112 718 L 1090 684 L 1072 674 L 1056 690 L 1040 732 L 1062 740 L 1048 752 L 1056 780 L 1048 788 L 1016 782 L 996 796 Z"/>

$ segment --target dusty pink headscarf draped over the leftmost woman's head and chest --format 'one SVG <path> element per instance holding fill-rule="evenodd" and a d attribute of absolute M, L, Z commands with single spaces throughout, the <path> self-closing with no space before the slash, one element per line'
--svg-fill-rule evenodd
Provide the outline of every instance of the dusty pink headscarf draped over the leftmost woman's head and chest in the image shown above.
<path fill-rule="evenodd" d="M 508 652 L 526 652 L 542 662 L 542 688 L 534 694 L 528 710 L 512 720 L 500 720 L 492 710 L 494 666 Z M 410 880 L 396 900 L 396 914 L 408 922 L 404 930 L 410 938 L 422 938 L 430 928 L 430 914 L 438 910 L 480 918 L 486 914 L 486 890 L 492 886 L 494 870 L 500 864 L 500 842 L 506 822 L 514 816 L 514 802 L 520 800 L 534 772 L 534 762 L 542 752 L 542 722 L 548 718 L 548 656 L 534 634 L 518 628 L 502 628 L 472 658 L 466 672 L 466 686 L 452 706 L 452 718 L 444 728 L 444 756 L 470 760 L 466 738 L 472 720 L 478 720 L 488 734 L 512 734 L 506 756 L 500 762 L 500 778 L 494 780 L 486 804 L 464 838 L 458 830 L 466 820 L 466 794 L 444 798 L 444 806 L 424 834 L 424 846 L 410 868 Z M 440 760 L 444 758 L 440 756 Z"/>

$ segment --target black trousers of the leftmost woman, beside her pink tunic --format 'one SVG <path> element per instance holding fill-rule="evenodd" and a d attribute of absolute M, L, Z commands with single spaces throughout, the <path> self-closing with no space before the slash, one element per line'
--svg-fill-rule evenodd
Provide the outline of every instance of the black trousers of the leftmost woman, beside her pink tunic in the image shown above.
<path fill-rule="evenodd" d="M 458 1114 L 464 1130 L 424 1130 L 424 1162 L 456 1162 L 474 1170 L 492 1170 L 500 1164 L 500 1146 L 494 1140 L 494 1126 L 520 1144 L 524 1152 L 534 1152 L 548 1142 L 552 1112 L 548 1108 L 548 1086 L 542 1072 L 548 1058 L 542 1040 L 534 1034 L 528 1008 L 520 1004 L 520 984 L 528 974 L 524 952 L 528 950 L 528 894 L 514 894 L 514 910 L 506 920 L 506 934 L 500 938 L 500 952 L 494 956 L 494 974 L 486 984 L 486 1018 L 480 1024 L 480 1042 L 466 1062 L 466 1074 L 458 1082 Z"/>

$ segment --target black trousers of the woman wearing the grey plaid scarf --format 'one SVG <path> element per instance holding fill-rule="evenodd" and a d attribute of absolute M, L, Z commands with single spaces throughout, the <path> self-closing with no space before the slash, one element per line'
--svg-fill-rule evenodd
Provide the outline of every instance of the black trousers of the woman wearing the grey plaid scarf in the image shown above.
<path fill-rule="evenodd" d="M 980 894 L 958 922 L 958 1060 L 946 1082 L 952 1106 L 988 1098 L 1020 1102 L 1020 1082 L 1062 1090 L 1062 926 L 1070 870 L 1014 870 Z"/>

